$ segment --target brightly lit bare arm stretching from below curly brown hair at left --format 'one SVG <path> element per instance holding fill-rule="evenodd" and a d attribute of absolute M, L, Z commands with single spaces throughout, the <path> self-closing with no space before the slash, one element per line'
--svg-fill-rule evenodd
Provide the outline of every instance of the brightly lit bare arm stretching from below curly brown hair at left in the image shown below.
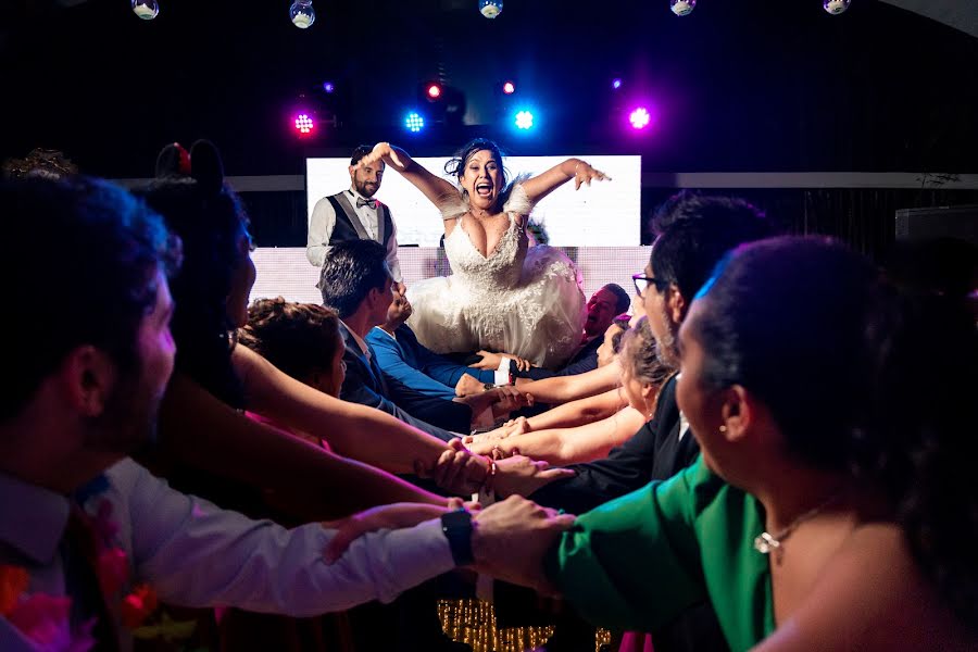
<path fill-rule="evenodd" d="M 247 347 L 235 347 L 231 362 L 251 410 L 325 439 L 341 455 L 392 473 L 411 473 L 415 461 L 434 468 L 446 451 L 440 439 L 379 410 L 317 391 Z"/>

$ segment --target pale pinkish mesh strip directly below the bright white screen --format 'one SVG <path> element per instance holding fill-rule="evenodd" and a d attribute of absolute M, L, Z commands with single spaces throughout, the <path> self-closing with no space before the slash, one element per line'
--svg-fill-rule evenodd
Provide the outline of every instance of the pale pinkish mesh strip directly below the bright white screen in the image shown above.
<path fill-rule="evenodd" d="M 387 183 L 387 181 L 385 181 Z M 549 198 L 548 198 L 549 199 Z M 601 286 L 616 283 L 635 293 L 631 275 L 644 269 L 651 247 L 562 247 L 577 263 L 585 294 L 590 298 Z M 290 301 L 319 303 L 316 289 L 319 271 L 309 264 L 301 247 L 260 247 L 253 253 L 258 280 L 251 299 L 278 297 Z M 423 278 L 451 273 L 444 251 L 437 247 L 401 247 L 398 252 L 408 287 Z"/>

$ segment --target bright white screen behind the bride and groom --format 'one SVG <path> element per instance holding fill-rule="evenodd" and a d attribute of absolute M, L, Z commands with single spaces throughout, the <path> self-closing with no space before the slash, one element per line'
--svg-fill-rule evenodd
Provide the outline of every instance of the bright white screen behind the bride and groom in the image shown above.
<path fill-rule="evenodd" d="M 544 172 L 574 154 L 561 156 L 507 156 L 506 171 L 514 175 Z M 634 247 L 641 242 L 641 156 L 582 156 L 612 180 L 594 183 L 574 190 L 567 183 L 554 190 L 536 209 L 534 222 L 547 231 L 550 244 L 557 247 Z M 448 158 L 415 159 L 434 174 L 444 174 Z M 350 187 L 350 159 L 306 159 L 306 218 L 313 206 L 327 195 Z M 384 175 L 377 199 L 390 206 L 398 225 L 398 243 L 438 247 L 444 233 L 441 214 L 421 190 L 397 172 Z"/>

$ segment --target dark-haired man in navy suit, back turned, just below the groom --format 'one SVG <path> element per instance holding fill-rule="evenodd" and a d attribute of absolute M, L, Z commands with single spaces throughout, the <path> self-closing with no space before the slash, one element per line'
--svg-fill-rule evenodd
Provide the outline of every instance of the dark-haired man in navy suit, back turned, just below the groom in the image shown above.
<path fill-rule="evenodd" d="M 383 410 L 444 441 L 457 437 L 460 432 L 467 434 L 472 429 L 472 409 L 468 405 L 426 397 L 397 380 L 389 384 L 363 339 L 371 328 L 385 322 L 393 298 L 393 281 L 386 255 L 384 247 L 373 240 L 338 242 L 319 273 L 323 304 L 335 309 L 341 319 L 347 377 L 340 398 Z M 418 405 L 427 404 L 430 412 L 438 413 L 441 423 L 449 427 L 432 425 L 402 410 L 390 399 L 390 392 L 394 390 L 403 397 L 411 397 Z"/>

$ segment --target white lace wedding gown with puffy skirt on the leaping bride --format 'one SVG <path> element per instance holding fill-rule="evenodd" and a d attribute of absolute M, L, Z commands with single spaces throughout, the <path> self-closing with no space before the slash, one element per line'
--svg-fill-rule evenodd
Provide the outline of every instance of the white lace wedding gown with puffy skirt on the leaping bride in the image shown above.
<path fill-rule="evenodd" d="M 444 238 L 453 274 L 408 288 L 414 308 L 408 324 L 425 347 L 437 353 L 512 353 L 549 368 L 575 352 L 585 313 L 580 274 L 559 249 L 528 247 L 515 215 L 528 215 L 530 209 L 517 185 L 503 206 L 510 227 L 488 258 L 465 231 L 462 216 L 468 205 L 443 211 L 456 220 Z"/>

